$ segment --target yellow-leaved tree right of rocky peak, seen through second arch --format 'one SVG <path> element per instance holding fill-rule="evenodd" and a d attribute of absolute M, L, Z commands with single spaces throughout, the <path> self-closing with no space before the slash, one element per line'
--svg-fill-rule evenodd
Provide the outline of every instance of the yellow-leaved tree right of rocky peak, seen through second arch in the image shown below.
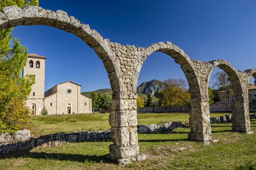
<path fill-rule="evenodd" d="M 164 80 L 168 87 L 161 94 L 161 104 L 164 106 L 182 106 L 190 101 L 189 91 L 186 89 L 186 81 L 182 78 L 168 78 Z"/>

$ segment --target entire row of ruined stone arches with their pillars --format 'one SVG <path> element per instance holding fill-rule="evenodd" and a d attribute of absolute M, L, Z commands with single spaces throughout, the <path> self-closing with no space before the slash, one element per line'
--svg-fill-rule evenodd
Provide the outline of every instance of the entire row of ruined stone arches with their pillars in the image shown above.
<path fill-rule="evenodd" d="M 190 140 L 204 143 L 212 141 L 208 87 L 211 73 L 217 66 L 228 74 L 234 87 L 232 130 L 251 133 L 248 85 L 251 76 L 256 78 L 256 69 L 241 72 L 225 60 L 192 60 L 182 49 L 170 42 L 159 42 L 147 47 L 113 43 L 102 38 L 89 25 L 69 17 L 61 10 L 55 12 L 38 6 L 3 8 L 0 12 L 0 30 L 17 25 L 47 25 L 70 32 L 97 53 L 108 72 L 113 90 L 109 117 L 113 144 L 109 146 L 109 157 L 120 164 L 145 159 L 145 155 L 140 155 L 138 145 L 136 87 L 143 62 L 153 52 L 163 52 L 175 59 L 188 80 L 191 94 L 188 134 Z"/>

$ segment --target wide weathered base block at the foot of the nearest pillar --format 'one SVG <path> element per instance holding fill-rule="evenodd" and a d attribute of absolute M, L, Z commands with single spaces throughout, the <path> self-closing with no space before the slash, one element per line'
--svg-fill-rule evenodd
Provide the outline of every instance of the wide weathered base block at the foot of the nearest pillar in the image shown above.
<path fill-rule="evenodd" d="M 109 145 L 108 159 L 113 162 L 118 162 L 122 166 L 131 163 L 132 161 L 145 160 L 146 155 L 139 153 L 139 145 L 118 147 L 114 144 Z"/>

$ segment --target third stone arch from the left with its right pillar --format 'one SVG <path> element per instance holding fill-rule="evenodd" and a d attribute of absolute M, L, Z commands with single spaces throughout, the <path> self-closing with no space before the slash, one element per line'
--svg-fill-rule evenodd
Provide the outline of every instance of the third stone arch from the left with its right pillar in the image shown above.
<path fill-rule="evenodd" d="M 233 67 L 226 60 L 212 60 L 209 62 L 209 72 L 205 81 L 205 96 L 208 97 L 209 80 L 215 67 L 220 67 L 228 74 L 234 90 L 234 103 L 232 104 L 232 130 L 250 133 L 250 117 L 248 104 L 248 81 L 250 78 Z M 248 79 L 249 78 L 249 79 Z"/>

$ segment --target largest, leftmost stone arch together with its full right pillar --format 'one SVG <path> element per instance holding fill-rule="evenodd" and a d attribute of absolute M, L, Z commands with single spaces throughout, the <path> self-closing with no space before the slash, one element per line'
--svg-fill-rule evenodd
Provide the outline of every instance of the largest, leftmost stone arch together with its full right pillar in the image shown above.
<path fill-rule="evenodd" d="M 44 10 L 38 6 L 26 6 L 25 8 L 8 6 L 3 8 L 0 12 L 0 31 L 17 25 L 55 27 L 74 34 L 93 48 L 108 72 L 109 82 L 113 90 L 110 124 L 111 138 L 114 144 L 109 146 L 109 158 L 120 164 L 127 164 L 131 160 L 145 159 L 145 155 L 139 154 L 136 132 L 137 120 L 134 120 L 134 122 L 127 120 L 127 117 L 132 113 L 132 110 L 128 110 L 128 107 L 136 110 L 134 108 L 136 105 L 133 106 L 134 100 L 136 104 L 136 95 L 132 96 L 131 93 L 127 93 L 129 87 L 125 85 L 124 74 L 120 69 L 120 60 L 116 57 L 115 48 L 118 48 L 119 45 L 111 43 L 109 39 L 103 39 L 97 31 L 90 29 L 89 25 L 79 22 L 74 17 L 69 17 L 65 11 L 61 10 L 54 12 Z M 126 115 L 125 119 L 124 115 Z M 113 119 L 113 117 L 115 118 Z"/>

